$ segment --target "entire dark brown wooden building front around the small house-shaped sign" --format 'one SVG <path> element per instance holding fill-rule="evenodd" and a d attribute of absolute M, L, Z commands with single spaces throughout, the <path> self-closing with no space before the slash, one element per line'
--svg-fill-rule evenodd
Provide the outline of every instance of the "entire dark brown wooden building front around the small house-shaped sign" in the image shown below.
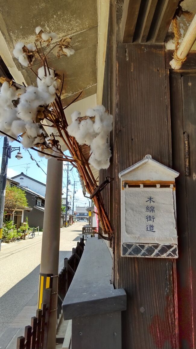
<path fill-rule="evenodd" d="M 103 104 L 114 116 L 114 178 L 103 199 L 114 227 L 115 288 L 127 293 L 123 349 L 196 348 L 196 54 L 170 69 L 165 36 L 178 1 L 111 1 Z M 189 136 L 190 176 L 184 172 Z M 179 258 L 121 257 L 119 172 L 151 154 L 180 172 L 176 180 Z"/>

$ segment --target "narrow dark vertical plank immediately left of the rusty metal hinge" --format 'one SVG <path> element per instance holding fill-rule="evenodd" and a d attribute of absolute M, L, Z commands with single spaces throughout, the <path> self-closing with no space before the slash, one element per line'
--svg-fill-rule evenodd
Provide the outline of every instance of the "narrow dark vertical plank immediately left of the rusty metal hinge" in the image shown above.
<path fill-rule="evenodd" d="M 187 341 L 189 347 L 193 348 L 191 331 L 191 291 L 189 278 L 189 243 L 188 243 L 188 221 L 186 205 L 186 183 L 184 177 L 184 145 L 183 145 L 183 112 L 182 112 L 182 86 L 181 75 L 171 74 L 170 101 L 171 101 L 171 128 L 172 128 L 172 161 L 173 169 L 180 173 L 176 178 L 176 213 L 179 258 L 177 267 L 177 289 L 178 289 L 178 322 L 179 341 Z"/>

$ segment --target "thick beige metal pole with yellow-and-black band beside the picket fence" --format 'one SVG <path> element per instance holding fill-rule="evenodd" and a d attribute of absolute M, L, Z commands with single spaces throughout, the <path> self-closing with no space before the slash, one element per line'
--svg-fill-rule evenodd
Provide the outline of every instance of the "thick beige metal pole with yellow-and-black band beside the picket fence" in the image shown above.
<path fill-rule="evenodd" d="M 56 347 L 62 172 L 62 161 L 54 158 L 48 159 L 38 295 L 38 308 L 40 308 L 43 302 L 44 289 L 52 288 L 46 349 Z"/>

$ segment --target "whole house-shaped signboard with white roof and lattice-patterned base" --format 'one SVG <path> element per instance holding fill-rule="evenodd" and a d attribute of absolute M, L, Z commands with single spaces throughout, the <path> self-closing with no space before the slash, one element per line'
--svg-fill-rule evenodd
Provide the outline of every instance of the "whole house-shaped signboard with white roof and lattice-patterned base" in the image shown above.
<path fill-rule="evenodd" d="M 151 155 L 119 173 L 122 256 L 178 257 L 175 178 Z"/>

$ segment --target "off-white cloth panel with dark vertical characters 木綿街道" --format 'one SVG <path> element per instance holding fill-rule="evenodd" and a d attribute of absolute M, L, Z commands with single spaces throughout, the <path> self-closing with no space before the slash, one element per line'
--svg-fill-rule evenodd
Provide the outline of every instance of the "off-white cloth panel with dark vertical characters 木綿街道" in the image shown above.
<path fill-rule="evenodd" d="M 123 242 L 177 243 L 172 188 L 125 188 Z"/>

